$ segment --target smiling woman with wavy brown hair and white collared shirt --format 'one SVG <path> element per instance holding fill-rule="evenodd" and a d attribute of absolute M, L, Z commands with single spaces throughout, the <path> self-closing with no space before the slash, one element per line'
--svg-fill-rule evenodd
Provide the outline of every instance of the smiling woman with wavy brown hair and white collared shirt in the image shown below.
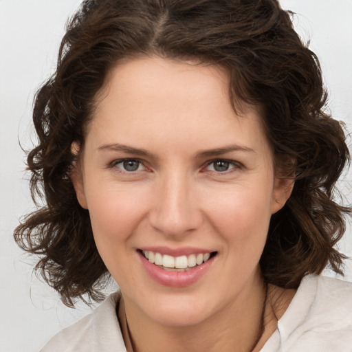
<path fill-rule="evenodd" d="M 43 351 L 351 350 L 333 201 L 349 159 L 318 60 L 274 0 L 85 1 L 36 96 L 15 231 L 74 305 Z"/>

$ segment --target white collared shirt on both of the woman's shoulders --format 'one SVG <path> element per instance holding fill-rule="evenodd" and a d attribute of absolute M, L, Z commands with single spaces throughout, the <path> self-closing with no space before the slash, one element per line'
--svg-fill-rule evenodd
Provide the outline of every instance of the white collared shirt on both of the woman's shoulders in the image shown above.
<path fill-rule="evenodd" d="M 41 352 L 126 352 L 115 292 Z M 352 284 L 307 275 L 261 352 L 352 352 Z M 219 351 L 220 352 L 220 351 Z"/>

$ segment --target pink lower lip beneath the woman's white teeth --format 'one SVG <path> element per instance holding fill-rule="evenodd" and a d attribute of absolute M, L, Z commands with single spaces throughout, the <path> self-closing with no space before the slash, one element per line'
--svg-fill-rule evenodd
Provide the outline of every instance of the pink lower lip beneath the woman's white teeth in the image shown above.
<path fill-rule="evenodd" d="M 168 287 L 186 287 L 196 283 L 208 270 L 214 261 L 214 256 L 206 263 L 192 267 L 192 269 L 185 272 L 169 272 L 164 270 L 157 265 L 154 265 L 143 254 L 138 252 L 142 265 L 146 272 L 153 278 L 157 283 L 168 286 Z"/>

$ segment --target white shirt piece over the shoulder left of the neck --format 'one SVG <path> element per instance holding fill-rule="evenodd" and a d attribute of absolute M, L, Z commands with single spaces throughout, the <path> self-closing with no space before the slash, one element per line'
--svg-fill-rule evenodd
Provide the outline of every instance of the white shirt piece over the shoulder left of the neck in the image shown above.
<path fill-rule="evenodd" d="M 125 352 L 115 310 L 119 300 L 118 292 L 111 294 L 91 314 L 57 333 L 41 352 Z"/>

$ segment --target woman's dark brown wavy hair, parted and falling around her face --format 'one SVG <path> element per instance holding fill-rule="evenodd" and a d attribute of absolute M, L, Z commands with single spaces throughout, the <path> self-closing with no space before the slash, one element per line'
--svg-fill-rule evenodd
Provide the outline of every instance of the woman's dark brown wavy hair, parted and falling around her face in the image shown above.
<path fill-rule="evenodd" d="M 38 145 L 28 153 L 32 197 L 45 206 L 14 231 L 24 250 L 39 254 L 36 270 L 66 305 L 102 298 L 109 273 L 89 213 L 70 179 L 96 96 L 119 61 L 158 55 L 220 65 L 232 101 L 263 109 L 276 164 L 294 175 L 294 190 L 274 214 L 261 257 L 267 283 L 298 287 L 307 273 L 330 265 L 342 273 L 336 243 L 345 230 L 336 181 L 349 161 L 340 122 L 325 112 L 327 94 L 316 55 L 294 31 L 276 0 L 84 1 L 67 24 L 56 73 L 39 89 L 33 121 Z M 235 103 L 234 103 L 235 105 Z"/>

